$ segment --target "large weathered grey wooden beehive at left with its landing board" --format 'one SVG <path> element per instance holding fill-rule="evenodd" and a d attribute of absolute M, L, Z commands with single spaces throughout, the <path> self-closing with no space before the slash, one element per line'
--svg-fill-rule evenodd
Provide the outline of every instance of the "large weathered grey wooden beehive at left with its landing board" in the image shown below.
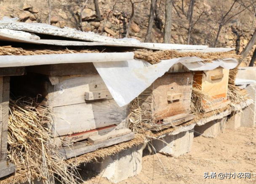
<path fill-rule="evenodd" d="M 127 128 L 128 106 L 117 105 L 92 63 L 42 65 L 27 71 L 16 83 L 27 96 L 42 95 L 41 104 L 51 107 L 53 137 L 57 146 L 66 147 L 65 157 L 133 138 Z M 77 151 L 78 146 L 84 149 Z"/>

